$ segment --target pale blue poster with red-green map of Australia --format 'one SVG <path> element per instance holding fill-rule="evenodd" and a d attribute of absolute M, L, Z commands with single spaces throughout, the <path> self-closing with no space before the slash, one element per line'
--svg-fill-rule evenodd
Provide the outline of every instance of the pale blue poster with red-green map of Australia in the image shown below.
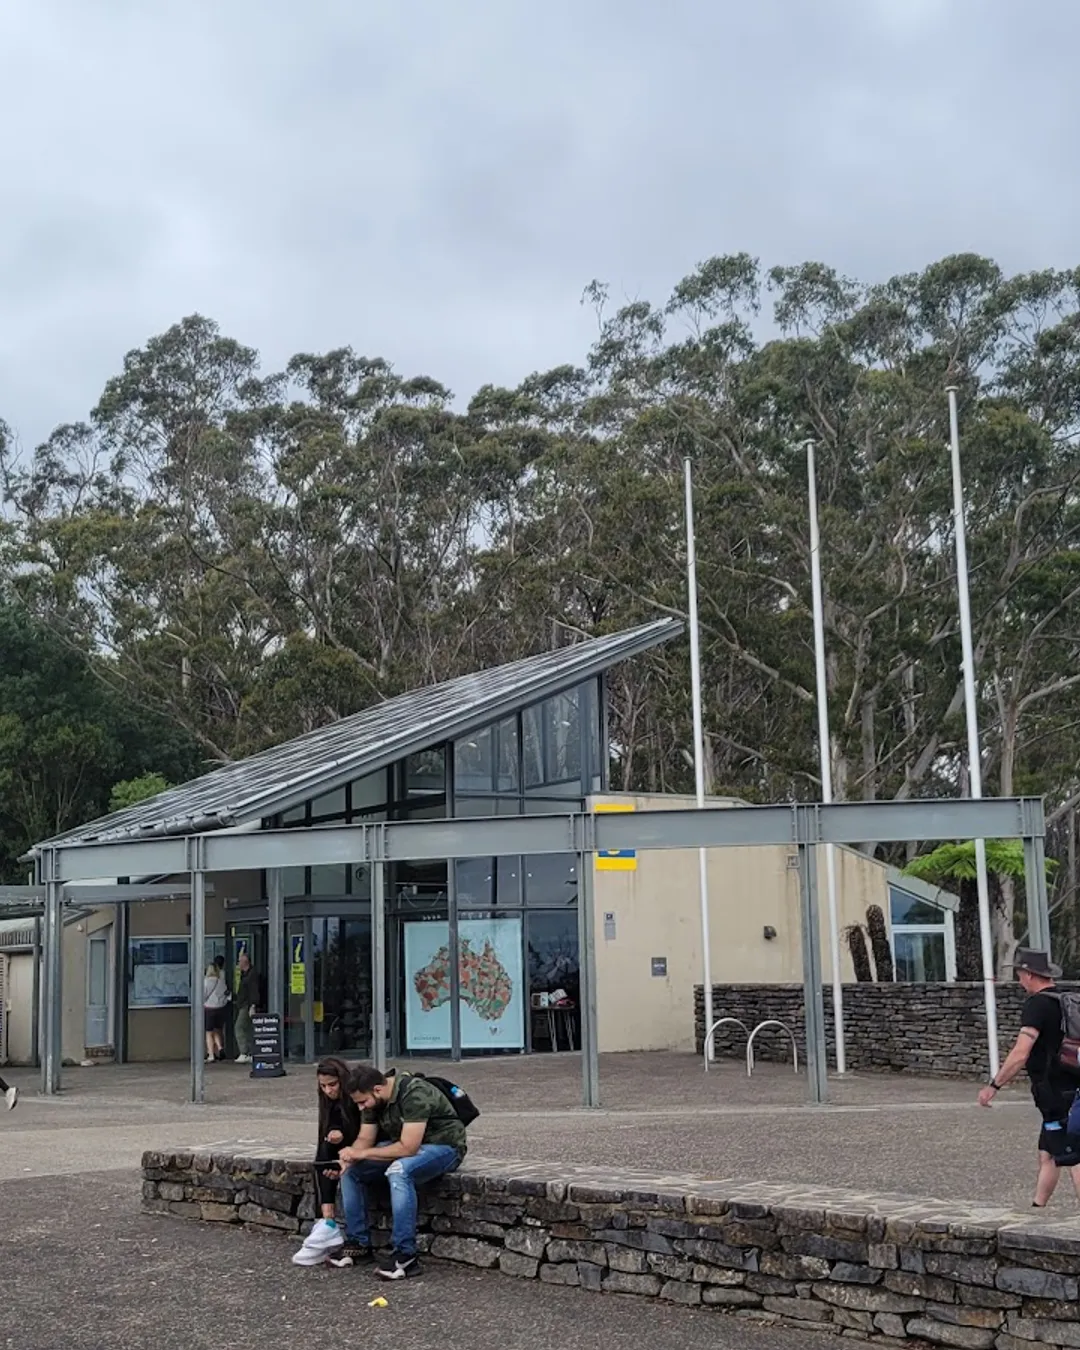
<path fill-rule="evenodd" d="M 520 1050 L 525 1044 L 521 919 L 458 923 L 462 1049 Z M 405 1041 L 410 1050 L 450 1049 L 450 925 L 405 925 Z"/>

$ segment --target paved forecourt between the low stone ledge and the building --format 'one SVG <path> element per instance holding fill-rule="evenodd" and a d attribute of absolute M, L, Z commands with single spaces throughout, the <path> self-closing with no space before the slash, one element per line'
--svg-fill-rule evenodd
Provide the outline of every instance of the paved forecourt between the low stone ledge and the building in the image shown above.
<path fill-rule="evenodd" d="M 1030 1200 L 1037 1118 L 1022 1087 L 983 1111 L 971 1083 L 852 1076 L 830 1084 L 834 1104 L 814 1108 L 806 1080 L 782 1066 L 761 1065 L 748 1081 L 732 1062 L 706 1075 L 688 1056 L 625 1054 L 603 1057 L 605 1106 L 583 1111 L 576 1056 L 470 1061 L 454 1072 L 483 1111 L 470 1130 L 478 1156 Z M 0 1180 L 131 1168 L 146 1148 L 313 1142 L 310 1068 L 252 1081 L 235 1065 L 209 1066 L 204 1107 L 185 1102 L 184 1065 L 68 1069 L 51 1100 L 35 1095 L 36 1076 L 4 1073 L 26 1095 L 0 1112 Z M 1076 1207 L 1064 1184 L 1054 1203 Z"/>

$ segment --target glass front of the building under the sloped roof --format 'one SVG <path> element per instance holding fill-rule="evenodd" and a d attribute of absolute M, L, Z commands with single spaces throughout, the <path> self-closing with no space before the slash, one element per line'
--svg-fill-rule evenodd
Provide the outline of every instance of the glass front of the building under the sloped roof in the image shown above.
<path fill-rule="evenodd" d="M 590 680 L 265 825 L 578 810 L 606 787 L 601 717 L 601 686 Z M 574 853 L 389 867 L 387 1053 L 451 1053 L 455 1041 L 463 1054 L 576 1048 L 578 873 Z M 286 1053 L 366 1057 L 373 1049 L 370 869 L 284 868 L 282 880 Z M 265 905 L 265 876 L 262 883 Z M 247 907 L 228 925 L 230 949 L 246 942 L 262 971 L 265 914 L 265 907 L 261 917 Z"/>

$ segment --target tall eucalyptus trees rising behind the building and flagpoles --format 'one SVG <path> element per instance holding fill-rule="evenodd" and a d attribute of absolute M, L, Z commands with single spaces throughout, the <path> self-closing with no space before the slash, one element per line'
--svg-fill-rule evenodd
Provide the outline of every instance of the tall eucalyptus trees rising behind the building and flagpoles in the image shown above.
<path fill-rule="evenodd" d="M 598 282 L 585 302 L 597 329 L 576 362 L 468 398 L 350 348 L 265 371 L 211 319 L 184 319 L 32 454 L 0 435 L 0 575 L 123 706 L 224 761 L 409 687 L 683 614 L 690 456 L 709 787 L 815 798 L 813 439 L 836 795 L 956 795 L 956 385 L 986 790 L 1046 796 L 1065 925 L 1080 269 L 1007 275 L 961 254 L 860 282 L 737 254 L 660 302 L 614 305 Z M 691 787 L 688 688 L 686 644 L 614 672 L 616 787 Z M 143 771 L 177 775 L 116 778 Z M 1075 927 L 1062 941 L 1080 954 Z"/>

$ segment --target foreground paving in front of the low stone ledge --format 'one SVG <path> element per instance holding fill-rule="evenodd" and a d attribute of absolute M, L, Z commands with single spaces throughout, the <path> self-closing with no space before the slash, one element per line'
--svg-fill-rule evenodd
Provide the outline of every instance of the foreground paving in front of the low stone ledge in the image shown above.
<path fill-rule="evenodd" d="M 428 1262 L 375 1287 L 290 1265 L 288 1238 L 138 1211 L 131 1172 L 0 1184 L 0 1346 L 11 1350 L 834 1350 L 832 1336 Z M 389 1307 L 373 1310 L 385 1296 Z"/>

